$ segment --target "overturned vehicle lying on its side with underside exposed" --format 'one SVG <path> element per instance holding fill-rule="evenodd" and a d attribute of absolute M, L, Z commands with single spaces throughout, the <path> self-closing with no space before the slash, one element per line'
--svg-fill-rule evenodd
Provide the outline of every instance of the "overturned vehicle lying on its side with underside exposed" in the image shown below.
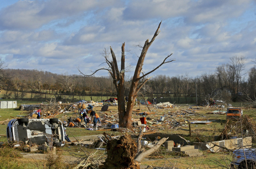
<path fill-rule="evenodd" d="M 6 129 L 8 142 L 22 141 L 37 145 L 64 146 L 64 129 L 58 118 L 12 119 Z"/>

